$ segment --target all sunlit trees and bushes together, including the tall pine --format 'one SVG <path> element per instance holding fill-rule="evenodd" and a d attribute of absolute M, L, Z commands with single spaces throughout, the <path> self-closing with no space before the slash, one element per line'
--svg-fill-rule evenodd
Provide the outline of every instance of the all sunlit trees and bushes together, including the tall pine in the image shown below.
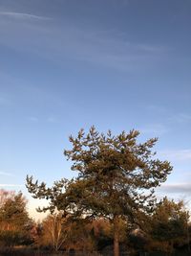
<path fill-rule="evenodd" d="M 172 172 L 156 158 L 157 139 L 138 142 L 137 130 L 102 134 L 91 128 L 70 137 L 65 151 L 78 175 L 53 187 L 27 177 L 33 198 L 49 211 L 33 221 L 22 193 L 0 191 L 0 247 L 79 255 L 189 255 L 191 224 L 184 202 L 155 196 Z M 27 254 L 26 254 L 27 255 Z M 77 254 L 76 254 L 77 255 Z"/>

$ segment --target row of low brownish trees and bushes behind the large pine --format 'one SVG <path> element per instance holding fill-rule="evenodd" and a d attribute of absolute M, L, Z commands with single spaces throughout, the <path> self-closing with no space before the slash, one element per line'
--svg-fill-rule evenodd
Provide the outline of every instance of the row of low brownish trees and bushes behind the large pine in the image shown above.
<path fill-rule="evenodd" d="M 152 215 L 142 216 L 141 228 L 120 220 L 121 253 L 153 255 L 150 253 L 157 251 L 188 252 L 191 244 L 188 217 L 182 201 L 176 203 L 163 198 Z M 25 255 L 28 255 L 27 252 L 32 255 L 32 250 L 45 250 L 46 255 L 48 251 L 65 251 L 71 255 L 74 252 L 81 255 L 93 252 L 93 255 L 113 255 L 113 235 L 114 225 L 104 218 L 74 220 L 70 216 L 64 217 L 60 211 L 35 222 L 29 217 L 27 201 L 22 193 L 0 190 L 0 249 L 4 255 L 6 251 L 11 255 L 12 249 L 16 255 L 18 248 L 21 251 L 25 248 Z"/>

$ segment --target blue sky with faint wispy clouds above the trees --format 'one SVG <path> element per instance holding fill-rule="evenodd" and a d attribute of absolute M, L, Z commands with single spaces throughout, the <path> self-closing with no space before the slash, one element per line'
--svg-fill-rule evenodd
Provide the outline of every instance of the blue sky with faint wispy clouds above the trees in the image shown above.
<path fill-rule="evenodd" d="M 191 201 L 191 0 L 0 0 L 0 188 L 71 178 L 92 125 L 158 137 L 159 198 Z"/>

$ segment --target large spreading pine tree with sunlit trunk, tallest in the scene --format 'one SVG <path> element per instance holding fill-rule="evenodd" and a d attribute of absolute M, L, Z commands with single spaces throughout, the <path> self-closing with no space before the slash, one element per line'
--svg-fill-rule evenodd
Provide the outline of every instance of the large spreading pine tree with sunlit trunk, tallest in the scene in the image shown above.
<path fill-rule="evenodd" d="M 83 218 L 105 218 L 114 225 L 114 254 L 119 255 L 120 219 L 138 223 L 141 212 L 151 212 L 155 204 L 154 188 L 166 180 L 172 167 L 154 159 L 157 139 L 138 143 L 139 132 L 122 131 L 117 136 L 109 130 L 99 133 L 95 127 L 85 134 L 81 129 L 70 137 L 72 149 L 64 154 L 74 164 L 78 176 L 62 179 L 53 188 L 27 177 L 27 187 L 35 198 L 51 199 L 50 206 L 66 214 Z"/>

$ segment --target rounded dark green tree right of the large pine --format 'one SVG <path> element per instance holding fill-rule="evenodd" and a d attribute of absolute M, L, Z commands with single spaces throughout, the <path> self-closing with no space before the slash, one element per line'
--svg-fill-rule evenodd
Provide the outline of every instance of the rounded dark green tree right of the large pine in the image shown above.
<path fill-rule="evenodd" d="M 189 213 L 182 200 L 175 202 L 163 198 L 150 221 L 151 246 L 166 252 L 172 252 L 175 245 L 189 244 Z"/>

